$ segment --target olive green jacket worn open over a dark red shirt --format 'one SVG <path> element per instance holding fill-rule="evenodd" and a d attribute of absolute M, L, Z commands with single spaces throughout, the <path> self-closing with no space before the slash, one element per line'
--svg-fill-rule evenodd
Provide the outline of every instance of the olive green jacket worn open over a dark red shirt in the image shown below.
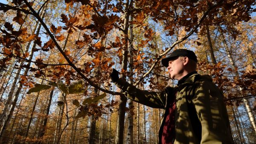
<path fill-rule="evenodd" d="M 159 137 L 168 100 L 177 91 L 174 144 L 233 143 L 222 92 L 209 75 L 193 74 L 183 84 L 166 87 L 162 92 L 137 89 L 122 78 L 115 84 L 127 98 L 148 107 L 164 109 Z M 161 138 L 159 140 L 161 144 Z"/>

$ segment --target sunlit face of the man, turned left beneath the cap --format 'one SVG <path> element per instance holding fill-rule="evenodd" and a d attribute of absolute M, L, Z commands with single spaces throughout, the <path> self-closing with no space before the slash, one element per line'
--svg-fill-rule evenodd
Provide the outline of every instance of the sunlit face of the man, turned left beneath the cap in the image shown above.
<path fill-rule="evenodd" d="M 183 77 L 184 71 L 183 58 L 177 57 L 169 60 L 167 69 L 172 79 L 180 80 Z"/>

